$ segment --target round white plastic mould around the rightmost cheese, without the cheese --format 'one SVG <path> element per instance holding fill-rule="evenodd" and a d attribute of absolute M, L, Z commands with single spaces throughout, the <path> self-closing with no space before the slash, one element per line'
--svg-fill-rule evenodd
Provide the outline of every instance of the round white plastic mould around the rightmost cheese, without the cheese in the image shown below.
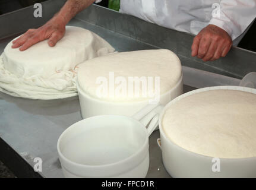
<path fill-rule="evenodd" d="M 200 88 L 182 94 L 168 103 L 160 113 L 159 130 L 163 164 L 173 178 L 256 178 L 256 157 L 245 159 L 221 159 L 220 172 L 213 172 L 213 157 L 185 150 L 167 138 L 162 128 L 162 118 L 170 105 L 195 93 L 209 90 L 239 90 L 256 94 L 256 89 L 238 86 Z"/>

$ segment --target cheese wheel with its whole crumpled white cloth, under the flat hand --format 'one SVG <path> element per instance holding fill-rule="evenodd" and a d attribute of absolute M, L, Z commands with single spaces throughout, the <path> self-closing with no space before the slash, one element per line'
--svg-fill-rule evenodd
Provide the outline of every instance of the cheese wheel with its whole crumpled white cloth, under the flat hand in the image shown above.
<path fill-rule="evenodd" d="M 67 26 L 64 37 L 49 47 L 48 40 L 20 51 L 12 42 L 0 56 L 0 91 L 29 99 L 59 99 L 77 95 L 76 66 L 114 52 L 101 37 Z"/>

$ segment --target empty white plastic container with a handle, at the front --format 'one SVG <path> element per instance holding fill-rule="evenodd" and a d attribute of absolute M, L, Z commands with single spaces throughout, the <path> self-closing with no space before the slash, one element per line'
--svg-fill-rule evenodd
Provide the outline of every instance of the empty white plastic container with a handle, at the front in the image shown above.
<path fill-rule="evenodd" d="M 161 109 L 161 106 L 148 105 L 135 119 L 101 115 L 71 125 L 57 144 L 64 176 L 145 178 L 149 166 L 148 137 L 158 124 L 157 113 Z"/>

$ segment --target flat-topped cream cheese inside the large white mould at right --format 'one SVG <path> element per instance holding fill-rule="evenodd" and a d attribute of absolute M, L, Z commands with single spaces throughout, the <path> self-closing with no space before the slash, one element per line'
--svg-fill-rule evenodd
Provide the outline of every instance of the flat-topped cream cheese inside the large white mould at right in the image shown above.
<path fill-rule="evenodd" d="M 256 94 L 239 90 L 191 94 L 169 105 L 162 128 L 170 141 L 197 154 L 255 157 Z"/>

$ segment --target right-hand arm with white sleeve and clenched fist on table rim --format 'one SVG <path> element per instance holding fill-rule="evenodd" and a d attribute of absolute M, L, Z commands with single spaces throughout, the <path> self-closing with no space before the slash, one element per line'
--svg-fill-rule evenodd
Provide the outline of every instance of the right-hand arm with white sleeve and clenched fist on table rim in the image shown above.
<path fill-rule="evenodd" d="M 220 1 L 219 14 L 213 14 L 209 25 L 195 36 L 191 55 L 203 61 L 226 56 L 232 47 L 232 40 L 246 30 L 255 15 L 255 0 Z"/>

